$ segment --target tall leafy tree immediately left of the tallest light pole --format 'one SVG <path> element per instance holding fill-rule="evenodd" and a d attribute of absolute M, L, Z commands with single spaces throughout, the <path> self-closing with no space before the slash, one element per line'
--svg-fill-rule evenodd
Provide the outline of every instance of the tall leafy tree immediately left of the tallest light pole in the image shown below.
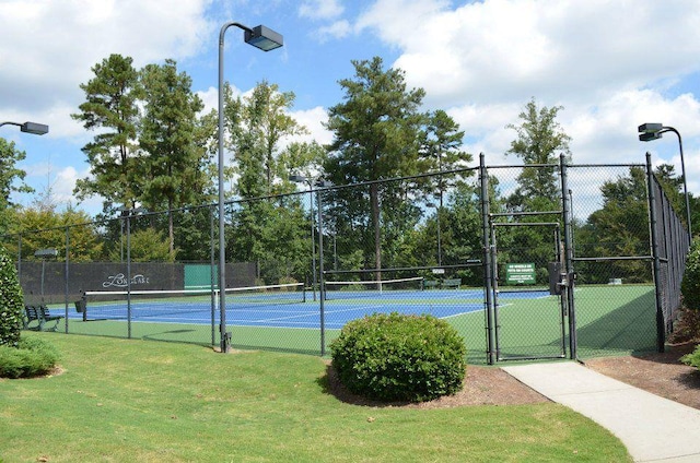
<path fill-rule="evenodd" d="M 139 145 L 143 151 L 136 166 L 141 174 L 140 202 L 149 210 L 165 209 L 170 251 L 175 250 L 173 212 L 175 207 L 202 202 L 210 185 L 206 175 L 209 161 L 198 139 L 197 114 L 202 102 L 191 92 L 191 79 L 177 72 L 173 60 L 148 64 L 141 71 L 144 115 Z"/>

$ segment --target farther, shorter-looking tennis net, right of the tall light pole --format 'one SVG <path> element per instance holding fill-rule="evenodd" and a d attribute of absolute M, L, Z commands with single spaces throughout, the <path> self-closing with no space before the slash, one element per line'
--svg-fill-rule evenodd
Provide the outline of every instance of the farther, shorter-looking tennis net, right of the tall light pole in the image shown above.
<path fill-rule="evenodd" d="M 405 294 L 415 294 L 423 289 L 423 277 L 324 282 L 326 299 L 353 299 L 361 297 L 393 298 Z"/>

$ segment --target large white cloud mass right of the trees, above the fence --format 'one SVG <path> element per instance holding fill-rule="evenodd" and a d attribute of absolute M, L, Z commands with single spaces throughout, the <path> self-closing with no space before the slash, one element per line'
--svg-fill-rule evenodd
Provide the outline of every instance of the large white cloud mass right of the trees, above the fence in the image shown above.
<path fill-rule="evenodd" d="M 425 90 L 428 107 L 448 109 L 475 163 L 479 152 L 491 164 L 520 162 L 503 156 L 515 138 L 505 126 L 517 124 L 534 97 L 540 106 L 563 106 L 558 121 L 572 136 L 576 163 L 643 163 L 649 150 L 680 173 L 677 143 L 642 144 L 637 136 L 642 122 L 676 127 L 687 139 L 690 179 L 700 177 L 700 102 L 674 88 L 700 75 L 699 7 L 695 0 L 486 0 L 456 8 L 378 0 L 355 27 L 398 48 L 393 66 L 406 72 L 409 87 Z"/>

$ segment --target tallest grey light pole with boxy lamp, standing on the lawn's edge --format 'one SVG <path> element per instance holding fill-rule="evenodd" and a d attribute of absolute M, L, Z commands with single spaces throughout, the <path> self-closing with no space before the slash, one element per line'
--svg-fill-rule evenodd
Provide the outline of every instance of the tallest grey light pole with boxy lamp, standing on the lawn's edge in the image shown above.
<path fill-rule="evenodd" d="M 280 34 L 271 31 L 262 25 L 256 27 L 244 26 L 240 23 L 226 23 L 221 27 L 219 33 L 219 332 L 220 346 L 222 353 L 228 353 L 230 343 L 226 334 L 226 241 L 224 237 L 225 219 L 224 219 L 224 155 L 223 155 L 223 44 L 226 29 L 236 26 L 244 31 L 244 40 L 262 51 L 270 51 L 283 45 L 283 38 Z"/>

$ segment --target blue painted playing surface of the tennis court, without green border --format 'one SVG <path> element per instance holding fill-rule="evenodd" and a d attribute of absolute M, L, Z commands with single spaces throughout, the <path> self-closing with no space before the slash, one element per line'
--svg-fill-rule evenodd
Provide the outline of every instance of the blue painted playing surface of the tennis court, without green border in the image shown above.
<path fill-rule="evenodd" d="M 539 298 L 548 292 L 509 292 L 503 299 Z M 320 300 L 316 294 L 306 294 L 306 301 L 270 300 L 260 295 L 258 300 L 246 297 L 244 301 L 226 297 L 226 323 L 241 327 L 270 327 L 319 329 Z M 149 323 L 219 323 L 218 301 L 210 297 L 199 300 L 132 300 L 131 321 Z M 506 302 L 508 304 L 508 302 Z M 324 301 L 324 319 L 327 329 L 340 329 L 346 323 L 376 312 L 423 314 L 447 319 L 483 310 L 483 289 L 429 289 L 418 292 L 334 292 Z M 71 311 L 71 319 L 82 320 L 81 313 Z M 126 300 L 112 302 L 88 302 L 86 319 L 126 321 Z"/>

